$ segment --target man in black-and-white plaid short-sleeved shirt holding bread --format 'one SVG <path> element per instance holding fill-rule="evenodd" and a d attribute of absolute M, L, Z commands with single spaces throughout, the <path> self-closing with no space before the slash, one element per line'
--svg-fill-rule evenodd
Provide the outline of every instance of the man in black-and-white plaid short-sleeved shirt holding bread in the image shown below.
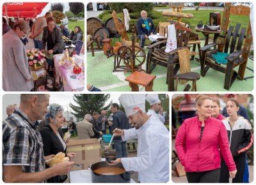
<path fill-rule="evenodd" d="M 43 142 L 35 121 L 44 119 L 49 94 L 21 94 L 20 108 L 3 121 L 3 181 L 44 182 L 66 175 L 74 162 L 58 163 L 45 170 Z"/>

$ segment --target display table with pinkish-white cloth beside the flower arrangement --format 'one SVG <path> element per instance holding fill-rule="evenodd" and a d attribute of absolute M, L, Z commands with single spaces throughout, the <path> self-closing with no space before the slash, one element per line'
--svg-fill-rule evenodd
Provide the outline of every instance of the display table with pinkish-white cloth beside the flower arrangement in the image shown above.
<path fill-rule="evenodd" d="M 54 59 L 54 71 L 56 74 L 56 80 L 60 77 L 63 80 L 64 91 L 83 91 L 84 89 L 84 71 L 81 71 L 80 74 L 75 74 L 73 72 L 73 67 L 70 69 L 66 69 L 61 64 L 61 59 L 64 54 L 57 54 L 53 57 Z M 82 67 L 82 63 L 84 61 L 84 55 L 80 54 L 80 56 L 76 55 L 76 61 L 80 67 Z"/>

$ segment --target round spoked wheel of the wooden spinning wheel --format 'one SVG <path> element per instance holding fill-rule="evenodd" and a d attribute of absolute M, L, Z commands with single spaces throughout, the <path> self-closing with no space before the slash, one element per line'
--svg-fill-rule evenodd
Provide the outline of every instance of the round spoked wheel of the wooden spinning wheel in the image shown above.
<path fill-rule="evenodd" d="M 137 46 L 134 46 L 134 47 L 135 47 L 135 51 L 134 51 L 135 66 L 134 66 L 134 68 L 138 68 L 145 62 L 146 53 L 143 50 L 143 48 L 140 48 L 140 47 L 137 47 Z M 140 52 L 143 53 L 142 57 L 140 57 Z M 130 67 L 131 67 L 131 57 L 132 57 L 131 53 L 132 53 L 132 47 L 130 46 L 130 47 L 126 47 L 124 49 L 124 51 L 122 52 L 122 54 L 121 54 L 121 58 L 123 59 L 124 64 L 126 66 L 130 66 Z"/>

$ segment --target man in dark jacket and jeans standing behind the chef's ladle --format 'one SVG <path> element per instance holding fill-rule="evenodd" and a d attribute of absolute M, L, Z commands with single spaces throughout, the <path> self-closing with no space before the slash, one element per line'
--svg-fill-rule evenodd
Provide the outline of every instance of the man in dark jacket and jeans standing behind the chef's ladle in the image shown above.
<path fill-rule="evenodd" d="M 115 128 L 129 129 L 129 121 L 124 112 L 119 110 L 119 105 L 112 103 L 110 110 L 113 113 L 113 130 Z M 113 138 L 113 142 L 116 149 L 116 158 L 127 158 L 126 141 L 123 141 L 120 136 L 116 136 Z"/>

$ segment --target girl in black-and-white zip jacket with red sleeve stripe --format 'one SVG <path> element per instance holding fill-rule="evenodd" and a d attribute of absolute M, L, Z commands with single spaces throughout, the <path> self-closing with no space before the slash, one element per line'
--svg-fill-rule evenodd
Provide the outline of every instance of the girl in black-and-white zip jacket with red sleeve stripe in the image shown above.
<path fill-rule="evenodd" d="M 237 174 L 232 180 L 233 183 L 242 183 L 244 175 L 244 166 L 246 160 L 246 151 L 252 147 L 253 135 L 250 122 L 237 114 L 239 103 L 236 100 L 227 101 L 228 117 L 222 122 L 227 129 L 230 151 L 236 163 Z M 220 183 L 228 183 L 227 165 L 221 159 Z"/>

